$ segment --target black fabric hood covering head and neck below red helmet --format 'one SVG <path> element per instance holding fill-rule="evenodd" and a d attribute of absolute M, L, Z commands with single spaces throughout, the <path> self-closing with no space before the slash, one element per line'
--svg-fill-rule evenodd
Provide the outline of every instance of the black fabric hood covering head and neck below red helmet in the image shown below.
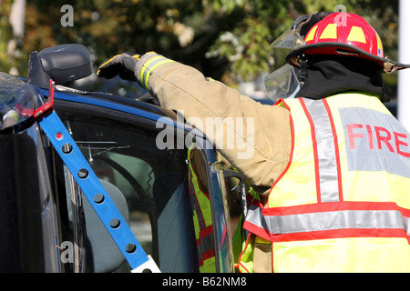
<path fill-rule="evenodd" d="M 383 68 L 366 59 L 344 55 L 309 55 L 306 70 L 301 69 L 304 84 L 295 97 L 321 99 L 348 91 L 378 95 L 382 102 L 390 98 L 384 92 Z"/>

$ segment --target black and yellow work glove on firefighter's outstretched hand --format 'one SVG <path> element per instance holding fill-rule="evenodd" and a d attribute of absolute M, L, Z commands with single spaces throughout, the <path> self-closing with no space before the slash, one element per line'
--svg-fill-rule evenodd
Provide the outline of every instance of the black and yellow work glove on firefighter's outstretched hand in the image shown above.
<path fill-rule="evenodd" d="M 111 79 L 119 75 L 121 79 L 136 82 L 137 77 L 134 71 L 138 60 L 139 55 L 130 55 L 128 53 L 114 55 L 98 67 L 97 76 Z"/>

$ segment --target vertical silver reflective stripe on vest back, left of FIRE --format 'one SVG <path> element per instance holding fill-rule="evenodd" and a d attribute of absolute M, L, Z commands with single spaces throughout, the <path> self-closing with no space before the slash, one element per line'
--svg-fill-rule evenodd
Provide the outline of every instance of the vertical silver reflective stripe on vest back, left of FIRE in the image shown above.
<path fill-rule="evenodd" d="M 339 201 L 339 184 L 334 137 L 330 117 L 323 100 L 303 98 L 306 109 L 312 116 L 317 142 L 321 202 Z"/>

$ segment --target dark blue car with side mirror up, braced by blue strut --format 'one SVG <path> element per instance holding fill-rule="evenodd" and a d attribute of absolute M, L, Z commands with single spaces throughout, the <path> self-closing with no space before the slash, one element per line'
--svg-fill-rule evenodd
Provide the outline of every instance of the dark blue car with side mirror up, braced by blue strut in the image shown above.
<path fill-rule="evenodd" d="M 206 137 L 187 143 L 195 131 L 174 112 L 66 86 L 91 70 L 84 46 L 58 45 L 31 55 L 27 78 L 0 74 L 0 272 L 131 269 L 40 125 L 53 109 L 162 272 L 200 272 L 207 259 L 213 262 L 207 272 L 233 272 L 224 176 L 233 172 Z M 53 109 L 38 112 L 50 99 L 50 79 Z M 211 210 L 207 246 L 195 220 L 200 208 L 191 169 Z"/>

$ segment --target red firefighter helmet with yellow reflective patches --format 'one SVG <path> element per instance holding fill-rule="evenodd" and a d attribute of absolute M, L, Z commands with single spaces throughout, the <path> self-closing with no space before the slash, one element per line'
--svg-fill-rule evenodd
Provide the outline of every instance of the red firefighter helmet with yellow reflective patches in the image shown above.
<path fill-rule="evenodd" d="M 299 35 L 294 33 L 293 35 Z M 302 43 L 286 56 L 291 65 L 300 66 L 304 55 L 349 55 L 369 59 L 385 72 L 409 67 L 384 58 L 382 41 L 363 17 L 351 13 L 331 13 L 314 24 L 306 35 L 299 35 Z M 304 36 L 304 37 L 303 37 Z"/>

